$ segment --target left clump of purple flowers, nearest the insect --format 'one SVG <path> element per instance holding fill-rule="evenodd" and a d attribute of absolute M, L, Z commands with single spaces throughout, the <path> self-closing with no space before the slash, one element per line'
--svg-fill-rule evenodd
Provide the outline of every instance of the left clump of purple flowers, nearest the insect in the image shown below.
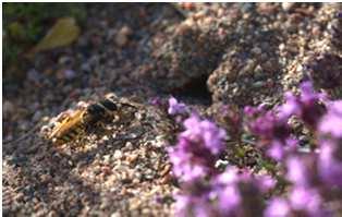
<path fill-rule="evenodd" d="M 261 194 L 274 185 L 274 180 L 233 167 L 219 172 L 215 164 L 224 149 L 225 132 L 208 120 L 200 120 L 197 114 L 184 120 L 184 128 L 176 146 L 169 149 L 173 173 L 182 190 L 176 195 L 178 214 L 233 216 L 249 210 L 247 206 L 261 214 Z"/>

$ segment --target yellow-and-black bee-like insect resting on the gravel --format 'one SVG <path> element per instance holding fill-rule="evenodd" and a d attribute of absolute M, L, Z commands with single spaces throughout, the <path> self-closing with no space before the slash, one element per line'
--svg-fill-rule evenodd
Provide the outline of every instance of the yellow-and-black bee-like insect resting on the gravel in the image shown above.
<path fill-rule="evenodd" d="M 114 97 L 107 97 L 98 103 L 76 110 L 64 118 L 50 133 L 49 140 L 56 144 L 64 144 L 76 141 L 90 129 L 102 125 L 103 122 L 114 120 L 124 113 L 126 108 L 135 108 L 134 105 L 121 103 Z"/>

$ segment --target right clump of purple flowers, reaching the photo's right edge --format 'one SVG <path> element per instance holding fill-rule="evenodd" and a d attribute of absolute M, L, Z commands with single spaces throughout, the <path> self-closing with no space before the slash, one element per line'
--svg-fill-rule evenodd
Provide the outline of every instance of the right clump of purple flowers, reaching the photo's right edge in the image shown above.
<path fill-rule="evenodd" d="M 283 176 L 291 183 L 288 196 L 270 200 L 265 216 L 327 216 L 323 193 L 342 186 L 342 103 L 329 101 L 308 82 L 301 85 L 301 95 L 286 93 L 285 99 L 276 111 L 245 109 L 251 132 L 259 137 L 266 154 L 284 168 Z M 318 137 L 314 152 L 298 152 L 288 124 L 291 117 Z"/>

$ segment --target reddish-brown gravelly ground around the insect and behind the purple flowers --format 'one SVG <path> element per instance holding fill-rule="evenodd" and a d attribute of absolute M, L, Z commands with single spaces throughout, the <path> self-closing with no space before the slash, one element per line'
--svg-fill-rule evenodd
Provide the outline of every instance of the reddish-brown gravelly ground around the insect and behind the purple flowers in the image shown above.
<path fill-rule="evenodd" d="M 216 105 L 274 106 L 307 76 L 342 97 L 338 3 L 96 3 L 87 13 L 73 46 L 36 55 L 23 81 L 4 77 L 7 216 L 172 216 L 166 147 L 179 126 L 150 98 L 174 95 L 215 117 Z M 137 109 L 75 144 L 45 138 L 60 113 L 108 93 Z M 251 159 L 228 153 L 224 164 Z"/>

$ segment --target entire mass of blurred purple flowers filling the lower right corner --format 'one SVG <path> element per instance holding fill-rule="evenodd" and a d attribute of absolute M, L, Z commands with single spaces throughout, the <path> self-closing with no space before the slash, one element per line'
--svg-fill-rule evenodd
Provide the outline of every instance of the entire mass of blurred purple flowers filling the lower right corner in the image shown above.
<path fill-rule="evenodd" d="M 171 105 L 171 104 L 170 104 Z M 181 216 L 331 216 L 326 204 L 342 202 L 342 100 L 329 101 L 305 82 L 301 94 L 285 94 L 285 103 L 266 110 L 244 109 L 242 128 L 257 136 L 257 147 L 278 162 L 283 194 L 266 200 L 276 178 L 247 169 L 215 167 L 223 155 L 225 132 L 192 114 L 183 121 L 176 146 L 169 149 L 180 180 L 176 212 Z M 314 135 L 310 150 L 302 152 L 289 121 L 296 117 Z M 237 131 L 236 131 L 237 132 Z"/>

